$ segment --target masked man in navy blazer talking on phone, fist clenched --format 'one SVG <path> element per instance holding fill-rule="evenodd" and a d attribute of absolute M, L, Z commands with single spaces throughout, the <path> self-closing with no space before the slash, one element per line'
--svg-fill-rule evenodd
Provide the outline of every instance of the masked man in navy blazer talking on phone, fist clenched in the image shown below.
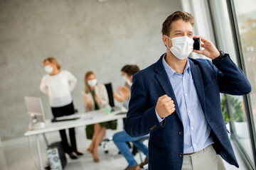
<path fill-rule="evenodd" d="M 193 36 L 193 16 L 176 11 L 163 23 L 166 53 L 133 77 L 124 128 L 150 133 L 149 169 L 218 169 L 217 154 L 238 167 L 220 106 L 220 93 L 245 95 L 250 82 L 228 54 Z M 203 50 L 193 50 L 201 38 Z M 188 58 L 191 52 L 210 60 Z"/>

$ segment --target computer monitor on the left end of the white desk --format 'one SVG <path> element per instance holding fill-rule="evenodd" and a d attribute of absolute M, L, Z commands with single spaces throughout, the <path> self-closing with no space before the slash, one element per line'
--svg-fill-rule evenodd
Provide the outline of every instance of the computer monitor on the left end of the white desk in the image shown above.
<path fill-rule="evenodd" d="M 45 115 L 43 112 L 43 103 L 40 97 L 25 96 L 26 109 L 29 120 L 36 119 L 36 122 L 44 122 Z"/>

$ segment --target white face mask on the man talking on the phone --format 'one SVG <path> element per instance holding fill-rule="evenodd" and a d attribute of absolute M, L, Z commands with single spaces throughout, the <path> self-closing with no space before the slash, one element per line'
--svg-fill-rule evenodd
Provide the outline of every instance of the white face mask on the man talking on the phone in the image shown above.
<path fill-rule="evenodd" d="M 166 36 L 169 38 L 168 36 Z M 193 51 L 193 39 L 186 35 L 183 37 L 169 38 L 172 42 L 172 47 L 169 47 L 171 53 L 179 60 L 184 60 Z M 168 45 L 166 45 L 168 47 Z"/>

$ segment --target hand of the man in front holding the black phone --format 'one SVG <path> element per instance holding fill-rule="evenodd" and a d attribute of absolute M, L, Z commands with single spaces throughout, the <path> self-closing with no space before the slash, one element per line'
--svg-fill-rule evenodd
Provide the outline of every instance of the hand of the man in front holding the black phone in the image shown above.
<path fill-rule="evenodd" d="M 206 38 L 196 35 L 193 36 L 194 38 L 201 38 L 201 47 L 204 48 L 204 50 L 193 50 L 193 52 L 196 52 L 201 55 L 205 55 L 206 57 L 210 58 L 211 60 L 214 60 L 216 57 L 220 55 L 220 52 L 218 49 L 213 45 L 213 42 L 210 42 L 210 40 L 207 40 Z"/>

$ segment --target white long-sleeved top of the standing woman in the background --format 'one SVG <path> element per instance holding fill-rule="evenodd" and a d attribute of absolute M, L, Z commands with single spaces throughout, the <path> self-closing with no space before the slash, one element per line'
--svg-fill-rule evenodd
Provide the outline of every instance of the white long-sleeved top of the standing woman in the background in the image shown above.
<path fill-rule="evenodd" d="M 58 74 L 43 76 L 40 90 L 49 96 L 50 106 L 61 107 L 72 102 L 71 91 L 75 88 L 77 79 L 68 70 L 62 70 Z"/>

